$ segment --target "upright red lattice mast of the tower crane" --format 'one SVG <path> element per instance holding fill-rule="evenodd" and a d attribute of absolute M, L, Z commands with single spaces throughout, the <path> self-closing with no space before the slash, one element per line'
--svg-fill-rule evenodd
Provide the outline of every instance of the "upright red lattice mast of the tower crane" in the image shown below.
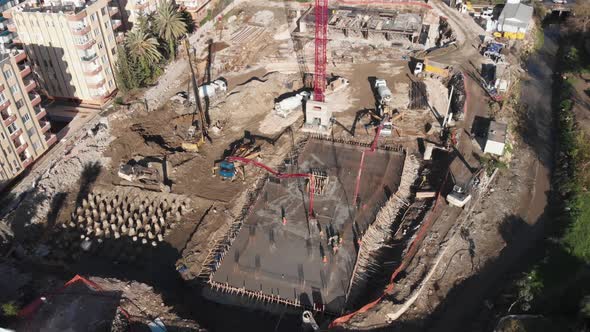
<path fill-rule="evenodd" d="M 326 91 L 326 48 L 328 45 L 328 0 L 315 0 L 315 75 L 313 100 L 324 102 Z"/>

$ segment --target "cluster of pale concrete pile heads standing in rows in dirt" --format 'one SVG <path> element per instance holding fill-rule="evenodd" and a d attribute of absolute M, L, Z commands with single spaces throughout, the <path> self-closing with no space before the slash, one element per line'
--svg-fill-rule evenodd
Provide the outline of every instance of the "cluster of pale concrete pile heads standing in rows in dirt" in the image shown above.
<path fill-rule="evenodd" d="M 125 236 L 134 242 L 156 247 L 190 207 L 189 201 L 153 198 L 90 193 L 64 226 L 79 229 L 84 250 L 90 247 L 93 239 L 101 243 L 103 239 Z"/>

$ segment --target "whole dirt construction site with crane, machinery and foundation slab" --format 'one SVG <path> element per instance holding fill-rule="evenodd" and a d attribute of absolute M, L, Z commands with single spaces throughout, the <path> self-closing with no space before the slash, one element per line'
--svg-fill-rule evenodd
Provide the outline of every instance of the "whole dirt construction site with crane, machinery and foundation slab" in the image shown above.
<path fill-rule="evenodd" d="M 414 256 L 490 181 L 464 133 L 467 78 L 445 62 L 463 37 L 423 3 L 327 0 L 238 2 L 203 31 L 184 67 L 90 121 L 20 196 L 5 221 L 28 218 L 25 250 L 311 326 L 355 329 L 394 279 L 408 301 L 435 266 Z"/>

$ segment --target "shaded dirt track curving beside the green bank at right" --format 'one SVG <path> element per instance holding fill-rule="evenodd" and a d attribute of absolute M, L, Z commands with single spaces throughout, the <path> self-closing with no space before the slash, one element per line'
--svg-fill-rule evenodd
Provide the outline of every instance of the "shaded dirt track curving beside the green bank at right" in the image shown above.
<path fill-rule="evenodd" d="M 477 317 L 474 314 L 481 312 L 485 299 L 499 289 L 498 286 L 504 281 L 504 276 L 514 269 L 536 241 L 543 237 L 544 225 L 547 222 L 543 214 L 547 206 L 552 167 L 553 120 L 551 94 L 548 92 L 552 88 L 552 67 L 558 37 L 556 31 L 555 27 L 546 31 L 545 45 L 539 53 L 529 58 L 528 80 L 522 85 L 521 100 L 535 112 L 528 119 L 531 132 L 525 138 L 527 146 L 524 147 L 532 150 L 532 156 L 537 158 L 534 168 L 529 171 L 533 173 L 531 174 L 534 178 L 533 189 L 518 204 L 518 214 L 504 220 L 504 223 L 499 225 L 499 229 L 487 231 L 489 237 L 501 236 L 506 241 L 506 247 L 499 252 L 497 258 L 489 259 L 487 262 L 480 261 L 479 273 L 458 283 L 450 290 L 432 315 L 432 321 L 425 324 L 429 331 L 485 329 L 468 322 L 474 323 Z M 513 197 L 513 199 L 517 198 Z M 502 214 L 503 211 L 498 212 Z M 493 221 L 489 220 L 488 223 Z M 476 250 L 479 250 L 482 245 L 485 245 L 485 242 L 475 240 L 475 246 L 478 247 Z"/>

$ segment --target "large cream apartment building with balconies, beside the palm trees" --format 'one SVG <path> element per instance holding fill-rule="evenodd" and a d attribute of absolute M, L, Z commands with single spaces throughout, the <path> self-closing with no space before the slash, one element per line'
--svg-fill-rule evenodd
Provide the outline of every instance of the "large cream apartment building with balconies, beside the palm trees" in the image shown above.
<path fill-rule="evenodd" d="M 116 3 L 27 1 L 3 16 L 49 98 L 102 105 L 116 91 L 117 42 L 123 40 Z"/>

